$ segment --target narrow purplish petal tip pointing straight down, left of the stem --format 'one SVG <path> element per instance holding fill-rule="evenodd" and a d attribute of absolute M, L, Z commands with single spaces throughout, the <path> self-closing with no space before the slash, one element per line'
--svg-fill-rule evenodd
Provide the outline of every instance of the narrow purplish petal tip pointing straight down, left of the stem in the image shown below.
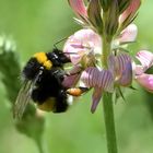
<path fill-rule="evenodd" d="M 91 111 L 94 113 L 96 110 L 96 107 L 102 98 L 102 92 L 103 90 L 102 89 L 98 89 L 98 87 L 95 87 L 94 89 L 94 93 L 92 95 L 92 107 L 91 107 Z"/>

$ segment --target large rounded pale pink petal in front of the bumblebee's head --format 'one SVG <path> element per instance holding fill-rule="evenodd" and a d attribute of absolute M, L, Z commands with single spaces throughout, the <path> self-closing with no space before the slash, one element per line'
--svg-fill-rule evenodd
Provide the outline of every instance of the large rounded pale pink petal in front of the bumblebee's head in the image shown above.
<path fill-rule="evenodd" d="M 81 30 L 70 36 L 63 47 L 63 52 L 73 64 L 80 62 L 84 55 L 101 52 L 101 37 L 92 30 Z M 97 52 L 95 52 L 97 51 Z"/>

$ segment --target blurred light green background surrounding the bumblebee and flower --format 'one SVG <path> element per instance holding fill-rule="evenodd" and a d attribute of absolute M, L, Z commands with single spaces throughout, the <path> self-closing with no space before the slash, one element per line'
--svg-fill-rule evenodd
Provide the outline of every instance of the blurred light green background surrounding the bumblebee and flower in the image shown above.
<path fill-rule="evenodd" d="M 139 49 L 153 50 L 152 7 L 151 0 L 141 5 L 132 54 Z M 67 0 L 0 0 L 0 34 L 13 37 L 24 64 L 34 52 L 50 50 L 55 42 L 81 28 L 73 16 Z M 138 90 L 127 92 L 126 103 L 120 99 L 115 105 L 119 153 L 152 153 L 153 95 L 134 86 Z M 90 97 L 90 93 L 80 97 L 67 114 L 45 115 L 46 153 L 106 153 L 103 108 L 99 105 L 92 115 Z M 0 82 L 0 153 L 20 152 L 38 153 L 38 149 L 32 139 L 16 131 L 7 91 Z"/>

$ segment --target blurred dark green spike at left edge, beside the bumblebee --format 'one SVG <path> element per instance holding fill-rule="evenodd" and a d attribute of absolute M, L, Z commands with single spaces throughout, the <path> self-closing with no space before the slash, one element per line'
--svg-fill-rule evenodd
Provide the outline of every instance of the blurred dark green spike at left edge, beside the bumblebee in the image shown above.
<path fill-rule="evenodd" d="M 0 48 L 0 73 L 7 89 L 8 97 L 13 104 L 20 89 L 20 61 L 13 48 L 7 48 L 7 44 Z"/>

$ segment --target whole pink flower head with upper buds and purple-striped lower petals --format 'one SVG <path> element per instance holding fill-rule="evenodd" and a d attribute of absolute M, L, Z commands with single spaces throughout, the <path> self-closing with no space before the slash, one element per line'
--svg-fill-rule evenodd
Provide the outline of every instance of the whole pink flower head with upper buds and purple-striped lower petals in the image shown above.
<path fill-rule="evenodd" d="M 132 81 L 153 92 L 153 76 L 145 73 L 153 66 L 153 54 L 139 51 L 138 64 L 127 48 L 137 38 L 138 28 L 132 21 L 141 0 L 90 0 L 87 4 L 83 0 L 69 0 L 69 4 L 85 28 L 75 32 L 64 44 L 63 52 L 70 58 L 72 70 L 80 68 L 64 83 L 75 86 L 83 82 L 93 89 L 92 113 L 104 92 L 132 86 Z"/>

